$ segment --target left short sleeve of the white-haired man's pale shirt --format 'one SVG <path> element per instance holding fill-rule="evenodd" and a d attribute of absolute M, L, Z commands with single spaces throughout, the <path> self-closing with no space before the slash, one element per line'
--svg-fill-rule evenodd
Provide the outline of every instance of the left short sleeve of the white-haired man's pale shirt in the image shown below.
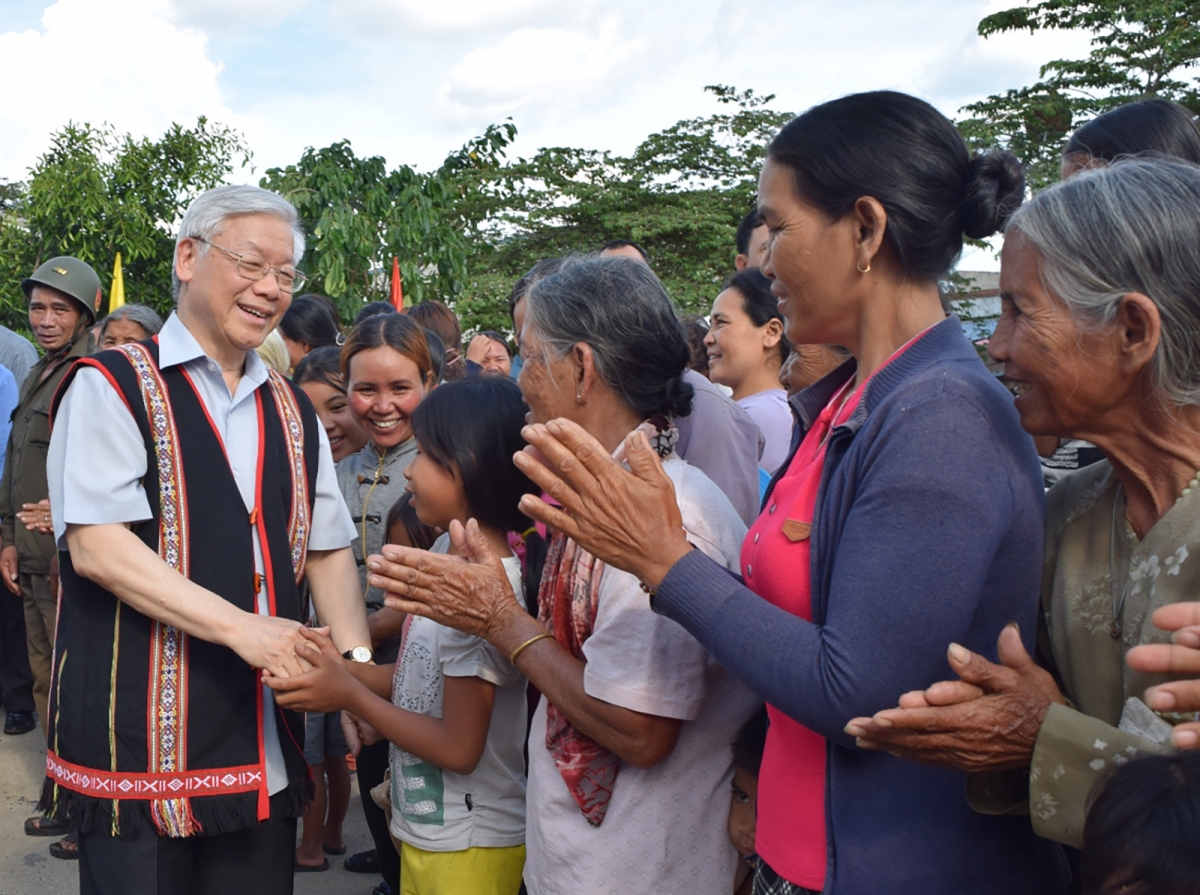
<path fill-rule="evenodd" d="M 62 396 L 46 459 L 59 548 L 66 549 L 67 525 L 152 518 L 145 474 L 145 443 L 125 398 L 100 371 L 80 368 Z"/>

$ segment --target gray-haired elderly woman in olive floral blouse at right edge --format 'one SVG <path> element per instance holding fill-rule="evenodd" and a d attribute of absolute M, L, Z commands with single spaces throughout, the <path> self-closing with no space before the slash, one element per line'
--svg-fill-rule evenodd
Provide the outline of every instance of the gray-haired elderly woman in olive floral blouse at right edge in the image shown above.
<path fill-rule="evenodd" d="M 1141 702 L 1170 678 L 1145 661 L 1162 648 L 1139 644 L 1169 642 L 1160 629 L 1189 624 L 1175 605 L 1200 593 L 1200 168 L 1130 160 L 1048 190 L 1013 216 L 1000 284 L 988 350 L 1022 426 L 1106 458 L 1048 497 L 1042 667 L 1010 629 L 1001 665 L 952 645 L 959 680 L 847 732 L 976 771 L 978 810 L 1027 810 L 1040 835 L 1079 846 L 1105 771 L 1196 745 L 1194 713 Z"/>

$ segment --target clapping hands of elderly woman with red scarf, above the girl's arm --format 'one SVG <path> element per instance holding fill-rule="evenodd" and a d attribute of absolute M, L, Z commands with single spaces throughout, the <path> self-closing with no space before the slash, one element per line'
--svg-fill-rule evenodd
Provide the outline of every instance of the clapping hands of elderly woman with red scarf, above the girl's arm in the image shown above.
<path fill-rule="evenodd" d="M 474 519 L 466 528 L 451 522 L 450 540 L 463 555 L 388 545 L 383 555 L 367 558 L 367 581 L 385 591 L 390 609 L 493 641 L 512 613 L 524 614 L 524 608 Z"/>

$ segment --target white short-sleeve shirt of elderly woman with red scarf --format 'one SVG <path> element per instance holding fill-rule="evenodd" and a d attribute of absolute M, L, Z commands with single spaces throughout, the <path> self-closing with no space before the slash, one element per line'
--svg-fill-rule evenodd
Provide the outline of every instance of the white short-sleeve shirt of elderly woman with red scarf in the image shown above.
<path fill-rule="evenodd" d="M 709 479 L 678 458 L 689 540 L 737 566 L 745 525 Z M 524 879 L 530 895 L 728 895 L 737 853 L 727 818 L 731 745 L 760 701 L 677 623 L 655 614 L 637 578 L 604 570 L 583 689 L 605 702 L 683 721 L 671 755 L 646 770 L 620 763 L 600 827 L 584 819 L 546 750 L 546 699 L 529 733 Z"/>

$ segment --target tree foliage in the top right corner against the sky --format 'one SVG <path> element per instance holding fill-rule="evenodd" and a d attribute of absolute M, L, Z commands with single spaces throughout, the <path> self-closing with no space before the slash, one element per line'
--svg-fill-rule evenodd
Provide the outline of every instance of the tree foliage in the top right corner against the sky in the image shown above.
<path fill-rule="evenodd" d="M 1000 146 L 1027 167 L 1037 190 L 1058 179 L 1067 136 L 1132 100 L 1174 100 L 1200 113 L 1200 5 L 1195 0 L 1042 0 L 988 16 L 979 35 L 1086 31 L 1085 59 L 1042 66 L 1036 84 L 966 106 L 959 122 L 977 148 Z"/>

